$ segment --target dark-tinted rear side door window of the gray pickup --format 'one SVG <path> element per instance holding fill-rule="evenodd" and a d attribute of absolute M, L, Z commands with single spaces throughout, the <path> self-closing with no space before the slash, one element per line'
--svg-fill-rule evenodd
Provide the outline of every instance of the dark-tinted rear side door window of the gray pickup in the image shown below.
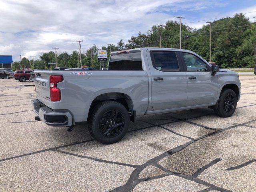
<path fill-rule="evenodd" d="M 179 64 L 174 51 L 152 51 L 151 58 L 153 67 L 164 72 L 178 72 Z"/>

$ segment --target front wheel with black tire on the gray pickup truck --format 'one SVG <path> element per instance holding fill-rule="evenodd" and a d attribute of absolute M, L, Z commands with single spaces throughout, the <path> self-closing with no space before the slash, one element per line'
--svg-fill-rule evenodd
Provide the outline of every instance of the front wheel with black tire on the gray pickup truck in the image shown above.
<path fill-rule="evenodd" d="M 236 104 L 236 93 L 232 89 L 224 89 L 220 93 L 218 108 L 214 112 L 220 117 L 230 117 L 236 110 Z"/>

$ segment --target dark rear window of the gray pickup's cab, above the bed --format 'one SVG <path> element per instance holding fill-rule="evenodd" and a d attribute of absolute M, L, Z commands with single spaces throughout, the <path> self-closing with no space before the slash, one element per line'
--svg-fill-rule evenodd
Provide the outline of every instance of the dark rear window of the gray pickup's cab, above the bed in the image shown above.
<path fill-rule="evenodd" d="M 112 55 L 108 70 L 142 70 L 141 52 Z"/>

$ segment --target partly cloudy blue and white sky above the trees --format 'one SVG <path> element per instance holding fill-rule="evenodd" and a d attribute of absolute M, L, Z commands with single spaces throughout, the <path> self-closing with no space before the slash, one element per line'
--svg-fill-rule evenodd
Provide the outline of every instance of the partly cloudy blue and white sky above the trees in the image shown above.
<path fill-rule="evenodd" d="M 127 42 L 175 15 L 200 28 L 205 22 L 194 21 L 240 12 L 254 12 L 246 17 L 256 20 L 255 0 L 0 0 L 0 55 L 18 61 L 20 54 L 38 59 L 54 47 L 71 53 L 78 39 L 86 52 L 93 44 Z"/>

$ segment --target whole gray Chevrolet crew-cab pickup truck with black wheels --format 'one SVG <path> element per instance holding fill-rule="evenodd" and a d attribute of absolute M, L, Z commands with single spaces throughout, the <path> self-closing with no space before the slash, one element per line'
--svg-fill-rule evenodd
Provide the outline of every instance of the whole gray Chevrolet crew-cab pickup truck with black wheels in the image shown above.
<path fill-rule="evenodd" d="M 36 119 L 49 126 L 89 123 L 111 144 L 136 116 L 209 107 L 229 117 L 240 99 L 236 72 L 219 70 L 194 52 L 136 48 L 112 52 L 108 70 L 34 70 Z"/>

